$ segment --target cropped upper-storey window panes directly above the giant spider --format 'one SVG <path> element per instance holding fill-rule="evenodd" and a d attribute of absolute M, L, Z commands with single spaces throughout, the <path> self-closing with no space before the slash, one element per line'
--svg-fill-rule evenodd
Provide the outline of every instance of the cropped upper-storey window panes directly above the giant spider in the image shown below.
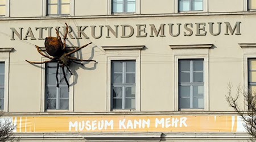
<path fill-rule="evenodd" d="M 69 15 L 70 0 L 48 0 L 48 15 Z"/>

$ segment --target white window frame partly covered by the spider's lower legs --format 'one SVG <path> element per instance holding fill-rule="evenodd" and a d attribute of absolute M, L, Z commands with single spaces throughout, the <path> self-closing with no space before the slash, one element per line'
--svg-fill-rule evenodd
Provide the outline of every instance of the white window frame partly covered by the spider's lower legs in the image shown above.
<path fill-rule="evenodd" d="M 42 57 L 43 61 L 48 61 L 49 59 Z M 73 74 L 69 78 L 69 103 L 68 103 L 68 110 L 47 110 L 46 109 L 46 64 L 41 64 L 41 112 L 73 112 L 74 111 L 74 76 Z M 73 68 L 70 68 L 71 72 L 73 72 Z"/>

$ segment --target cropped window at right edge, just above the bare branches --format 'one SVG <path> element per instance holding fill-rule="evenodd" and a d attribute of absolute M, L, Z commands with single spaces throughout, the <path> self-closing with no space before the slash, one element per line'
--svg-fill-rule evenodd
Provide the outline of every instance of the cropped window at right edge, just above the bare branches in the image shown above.
<path fill-rule="evenodd" d="M 251 93 L 256 91 L 256 59 L 248 59 L 248 88 Z"/>

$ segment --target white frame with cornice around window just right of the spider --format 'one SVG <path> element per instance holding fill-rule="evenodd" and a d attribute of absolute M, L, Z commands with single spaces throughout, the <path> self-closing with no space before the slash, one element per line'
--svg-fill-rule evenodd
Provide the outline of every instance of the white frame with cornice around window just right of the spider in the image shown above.
<path fill-rule="evenodd" d="M 106 111 L 141 111 L 141 49 L 144 45 L 139 46 L 108 46 L 102 47 L 107 55 L 107 99 Z M 135 109 L 112 109 L 111 94 L 111 61 L 113 60 L 135 60 Z"/>

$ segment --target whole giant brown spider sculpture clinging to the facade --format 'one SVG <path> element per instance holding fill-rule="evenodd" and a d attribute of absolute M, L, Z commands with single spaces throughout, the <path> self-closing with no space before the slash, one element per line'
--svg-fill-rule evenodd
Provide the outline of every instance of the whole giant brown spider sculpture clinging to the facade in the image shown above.
<path fill-rule="evenodd" d="M 68 52 L 68 50 L 66 48 L 68 24 L 65 23 L 65 25 L 66 25 L 66 30 L 65 30 L 65 35 L 63 37 L 63 42 L 61 41 L 61 37 L 60 37 L 59 31 L 57 29 L 55 29 L 57 37 L 46 37 L 46 39 L 44 41 L 44 46 L 46 47 L 46 52 L 50 56 L 45 55 L 42 51 L 40 51 L 38 45 L 35 45 L 36 49 L 38 50 L 40 55 L 47 57 L 48 59 L 51 59 L 51 60 L 43 61 L 43 62 L 33 62 L 33 61 L 27 61 L 27 60 L 26 61 L 29 62 L 30 64 L 44 64 L 44 63 L 48 63 L 48 62 L 57 62 L 57 70 L 56 70 L 57 87 L 59 87 L 58 73 L 59 73 L 59 66 L 61 66 L 65 82 L 67 83 L 68 88 L 69 88 L 69 83 L 68 83 L 67 77 L 65 76 L 64 66 L 67 67 L 68 71 L 71 73 L 71 75 L 73 75 L 73 73 L 69 69 L 69 65 L 71 64 L 71 62 L 75 62 L 76 64 L 83 65 L 83 64 L 81 64 L 81 62 L 77 62 L 77 61 L 94 61 L 94 62 L 96 62 L 96 61 L 95 60 L 81 60 L 81 59 L 77 59 L 76 57 L 71 56 L 73 53 L 81 50 L 82 48 L 84 48 L 87 45 L 92 44 L 92 43 L 88 43 L 86 45 L 83 45 L 82 47 L 76 48 L 75 50 Z"/>

